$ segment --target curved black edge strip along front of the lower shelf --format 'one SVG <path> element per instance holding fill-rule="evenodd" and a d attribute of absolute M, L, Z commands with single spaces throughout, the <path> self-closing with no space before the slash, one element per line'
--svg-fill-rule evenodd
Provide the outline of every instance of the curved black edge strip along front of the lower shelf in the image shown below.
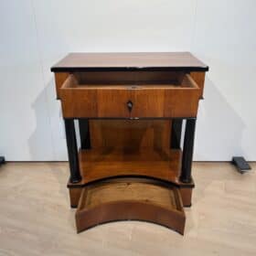
<path fill-rule="evenodd" d="M 69 181 L 67 187 L 68 188 L 81 188 L 81 187 L 88 187 L 91 185 L 95 185 L 101 182 L 106 182 L 106 181 L 114 181 L 115 179 L 125 179 L 125 178 L 134 178 L 134 179 L 144 179 L 145 183 L 153 183 L 155 185 L 161 186 L 161 187 L 170 187 L 170 186 L 174 186 L 174 187 L 190 187 L 193 188 L 195 187 L 193 178 L 191 180 L 190 183 L 182 183 L 182 182 L 178 182 L 175 183 L 173 181 L 166 181 L 164 179 L 160 179 L 157 177 L 152 177 L 152 176 L 140 176 L 140 175 L 125 175 L 125 176 L 108 176 L 108 177 L 104 177 L 101 179 L 97 179 L 97 180 L 93 180 L 91 182 L 88 183 L 83 183 L 83 184 L 73 184 Z"/>

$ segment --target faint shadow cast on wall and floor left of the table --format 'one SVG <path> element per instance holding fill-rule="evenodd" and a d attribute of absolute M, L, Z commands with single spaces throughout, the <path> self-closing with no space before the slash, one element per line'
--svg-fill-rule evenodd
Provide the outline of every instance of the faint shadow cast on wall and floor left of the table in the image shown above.
<path fill-rule="evenodd" d="M 59 102 L 56 99 L 55 81 L 52 78 L 32 104 L 36 116 L 36 128 L 28 139 L 31 159 L 34 161 L 58 161 L 67 158 L 64 125 Z M 56 136 L 56 137 L 55 137 Z M 60 144 L 58 147 L 56 144 Z M 61 153 L 56 153 L 61 148 Z M 67 196 L 69 165 L 48 164 L 51 173 L 58 180 L 60 193 Z"/>

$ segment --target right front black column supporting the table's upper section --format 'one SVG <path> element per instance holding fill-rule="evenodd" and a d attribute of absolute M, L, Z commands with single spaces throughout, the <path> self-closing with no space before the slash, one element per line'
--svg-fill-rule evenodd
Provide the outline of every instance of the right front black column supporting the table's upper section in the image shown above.
<path fill-rule="evenodd" d="M 196 118 L 187 119 L 180 176 L 180 180 L 184 183 L 191 182 L 191 167 L 193 158 L 195 128 Z"/>

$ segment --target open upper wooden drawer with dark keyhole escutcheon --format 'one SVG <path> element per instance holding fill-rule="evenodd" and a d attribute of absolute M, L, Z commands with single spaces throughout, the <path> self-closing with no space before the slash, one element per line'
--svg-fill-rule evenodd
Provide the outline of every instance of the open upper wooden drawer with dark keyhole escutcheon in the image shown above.
<path fill-rule="evenodd" d="M 119 74 L 120 76 L 120 74 Z M 159 75 L 158 75 L 159 76 Z M 114 77 L 114 75 L 112 75 Z M 118 76 L 117 76 L 118 77 Z M 85 79 L 70 74 L 60 88 L 65 118 L 173 118 L 196 117 L 200 97 L 197 83 L 184 73 L 165 80 Z"/>

